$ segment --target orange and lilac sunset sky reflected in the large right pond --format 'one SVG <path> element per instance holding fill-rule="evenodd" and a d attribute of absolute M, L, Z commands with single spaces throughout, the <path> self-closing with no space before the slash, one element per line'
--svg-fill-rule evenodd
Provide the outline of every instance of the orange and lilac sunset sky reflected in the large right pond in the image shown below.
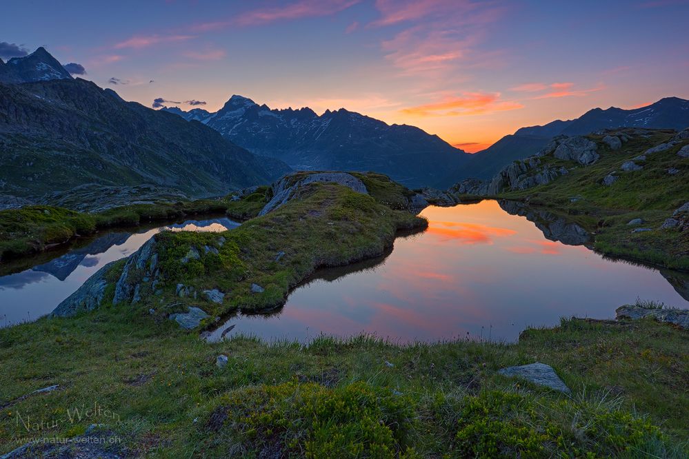
<path fill-rule="evenodd" d="M 555 325 L 561 316 L 612 317 L 637 296 L 686 305 L 657 271 L 548 241 L 495 201 L 421 215 L 428 230 L 398 238 L 378 265 L 319 278 L 292 292 L 279 314 L 239 316 L 226 326 L 268 339 L 365 332 L 402 342 L 467 333 L 515 340 L 525 327 Z"/>

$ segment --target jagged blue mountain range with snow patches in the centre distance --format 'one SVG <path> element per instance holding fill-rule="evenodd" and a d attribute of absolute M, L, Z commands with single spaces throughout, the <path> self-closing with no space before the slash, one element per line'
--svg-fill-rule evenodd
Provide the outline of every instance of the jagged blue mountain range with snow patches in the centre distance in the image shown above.
<path fill-rule="evenodd" d="M 274 110 L 234 95 L 215 113 L 162 110 L 195 119 L 250 152 L 280 159 L 295 170 L 375 171 L 408 187 L 435 184 L 470 156 L 414 126 L 388 125 L 343 108 L 321 115 L 310 108 Z"/>

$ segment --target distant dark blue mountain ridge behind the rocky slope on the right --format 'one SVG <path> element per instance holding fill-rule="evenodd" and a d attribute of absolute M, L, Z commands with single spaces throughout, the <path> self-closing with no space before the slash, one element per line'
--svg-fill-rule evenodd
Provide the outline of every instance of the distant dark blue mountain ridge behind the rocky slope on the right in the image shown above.
<path fill-rule="evenodd" d="M 577 136 L 604 129 L 646 128 L 683 130 L 689 126 L 689 101 L 666 97 L 646 107 L 633 110 L 595 108 L 577 119 L 552 121 L 542 126 L 521 128 L 472 156 L 471 161 L 455 170 L 458 179 L 489 179 L 502 167 L 536 154 L 552 137 Z"/>

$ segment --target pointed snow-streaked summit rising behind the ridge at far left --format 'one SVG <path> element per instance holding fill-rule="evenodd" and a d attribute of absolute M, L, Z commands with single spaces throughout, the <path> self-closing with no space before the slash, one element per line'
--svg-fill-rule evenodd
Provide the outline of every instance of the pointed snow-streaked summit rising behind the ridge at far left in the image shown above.
<path fill-rule="evenodd" d="M 13 57 L 6 63 L 0 59 L 0 83 L 30 83 L 66 79 L 72 75 L 50 55 L 46 48 L 38 48 L 25 57 Z"/>

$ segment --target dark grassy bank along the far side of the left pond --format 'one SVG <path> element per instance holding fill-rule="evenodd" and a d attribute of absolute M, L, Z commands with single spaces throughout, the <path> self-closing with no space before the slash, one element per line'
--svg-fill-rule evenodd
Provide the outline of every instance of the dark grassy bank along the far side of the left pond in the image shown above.
<path fill-rule="evenodd" d="M 43 252 L 75 236 L 86 236 L 98 230 L 169 221 L 188 215 L 225 213 L 226 209 L 227 205 L 219 201 L 201 200 L 127 205 L 98 214 L 48 205 L 0 210 L 0 261 Z"/>

